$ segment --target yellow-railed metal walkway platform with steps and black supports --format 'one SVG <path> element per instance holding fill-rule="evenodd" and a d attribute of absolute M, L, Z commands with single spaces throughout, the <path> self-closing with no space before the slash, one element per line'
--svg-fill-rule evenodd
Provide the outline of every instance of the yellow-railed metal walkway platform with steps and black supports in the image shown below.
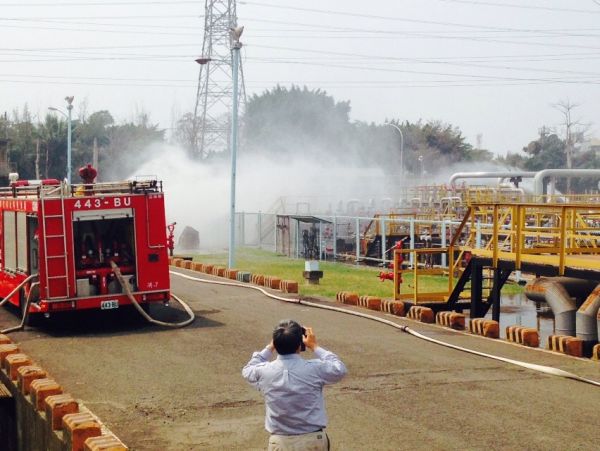
<path fill-rule="evenodd" d="M 407 254 L 412 264 L 404 268 L 398 261 Z M 422 263 L 435 254 L 446 256 L 447 269 Z M 471 317 L 492 307 L 498 320 L 500 290 L 513 271 L 600 281 L 600 205 L 471 203 L 448 246 L 395 250 L 394 260 L 394 299 L 453 309 L 470 285 Z M 407 272 L 414 276 L 413 291 L 401 294 Z M 442 273 L 448 274 L 446 290 L 420 291 L 420 276 Z"/>

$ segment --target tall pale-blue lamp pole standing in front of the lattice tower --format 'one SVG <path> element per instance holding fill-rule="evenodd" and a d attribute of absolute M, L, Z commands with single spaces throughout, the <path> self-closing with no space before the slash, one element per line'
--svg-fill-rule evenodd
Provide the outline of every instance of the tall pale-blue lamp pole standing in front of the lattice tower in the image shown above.
<path fill-rule="evenodd" d="M 233 59 L 233 103 L 231 108 L 231 197 L 229 210 L 229 258 L 228 267 L 235 265 L 235 171 L 237 154 L 237 133 L 238 133 L 238 66 L 240 61 L 240 49 L 242 43 L 240 37 L 244 32 L 244 27 L 230 28 L 231 33 L 231 57 Z"/>

